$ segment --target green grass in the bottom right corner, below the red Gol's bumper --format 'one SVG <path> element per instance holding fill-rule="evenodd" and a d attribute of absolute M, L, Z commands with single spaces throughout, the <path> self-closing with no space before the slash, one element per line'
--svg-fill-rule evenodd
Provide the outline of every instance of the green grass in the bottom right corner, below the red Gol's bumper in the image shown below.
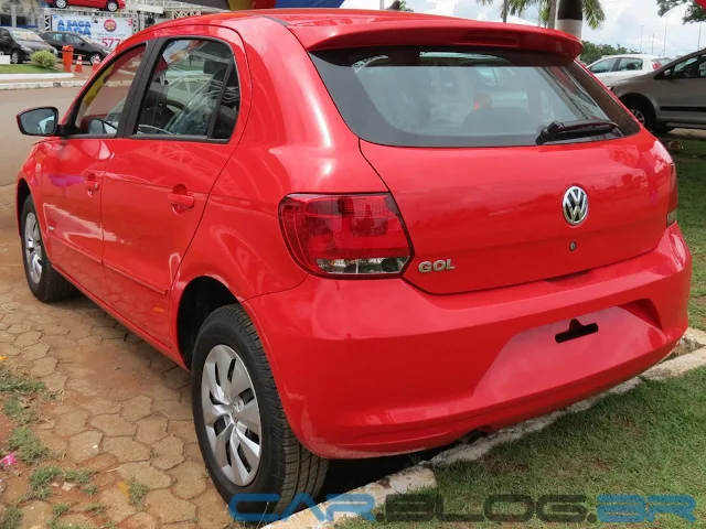
<path fill-rule="evenodd" d="M 546 430 L 499 446 L 478 462 L 436 469 L 438 492 L 447 514 L 483 511 L 489 495 L 585 495 L 588 512 L 596 512 L 601 494 L 692 495 L 697 522 L 657 515 L 655 523 L 631 523 L 646 529 L 704 527 L 706 517 L 706 368 L 664 382 L 645 382 L 612 396 L 589 411 L 561 418 Z M 502 508 L 499 511 L 503 511 Z M 515 509 L 514 511 L 517 511 Z M 699 521 L 702 525 L 699 526 Z M 373 528 L 364 520 L 339 527 Z M 609 527 L 601 523 L 386 523 L 385 528 L 527 527 L 569 529 Z M 610 526 L 610 527 L 623 527 Z M 624 526 L 628 527 L 628 526 Z"/>

